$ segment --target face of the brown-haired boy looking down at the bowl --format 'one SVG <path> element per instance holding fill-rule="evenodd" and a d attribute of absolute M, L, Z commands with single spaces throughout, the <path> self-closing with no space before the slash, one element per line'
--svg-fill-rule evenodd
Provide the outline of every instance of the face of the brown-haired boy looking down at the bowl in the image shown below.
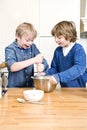
<path fill-rule="evenodd" d="M 58 37 L 55 37 L 56 43 L 61 47 L 67 47 L 70 45 L 70 41 L 66 40 L 63 35 L 60 35 Z"/>

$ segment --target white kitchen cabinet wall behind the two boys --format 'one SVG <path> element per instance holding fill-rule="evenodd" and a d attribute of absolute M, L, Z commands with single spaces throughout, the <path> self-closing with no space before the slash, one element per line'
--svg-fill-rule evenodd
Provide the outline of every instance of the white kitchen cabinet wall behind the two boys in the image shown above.
<path fill-rule="evenodd" d="M 73 20 L 79 36 L 80 0 L 0 0 L 0 62 L 18 24 L 31 22 L 39 32 L 35 43 L 50 64 L 57 47 L 50 31 L 61 20 Z"/>

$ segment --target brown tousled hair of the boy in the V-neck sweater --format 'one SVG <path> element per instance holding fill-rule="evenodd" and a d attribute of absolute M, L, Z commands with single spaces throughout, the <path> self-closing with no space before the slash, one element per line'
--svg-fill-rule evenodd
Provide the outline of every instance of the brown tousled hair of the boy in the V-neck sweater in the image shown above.
<path fill-rule="evenodd" d="M 51 34 L 54 37 L 63 35 L 65 39 L 69 40 L 70 42 L 75 42 L 77 39 L 76 26 L 73 21 L 61 21 L 57 23 L 53 27 Z"/>

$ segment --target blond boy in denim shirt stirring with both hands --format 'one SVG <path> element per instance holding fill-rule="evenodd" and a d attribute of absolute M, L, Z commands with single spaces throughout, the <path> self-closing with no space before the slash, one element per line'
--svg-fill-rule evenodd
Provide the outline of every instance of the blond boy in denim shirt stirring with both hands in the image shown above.
<path fill-rule="evenodd" d="M 16 29 L 16 39 L 5 48 L 8 63 L 8 87 L 34 87 L 34 64 L 39 72 L 48 69 L 48 63 L 33 43 L 37 31 L 31 23 L 22 23 Z"/>

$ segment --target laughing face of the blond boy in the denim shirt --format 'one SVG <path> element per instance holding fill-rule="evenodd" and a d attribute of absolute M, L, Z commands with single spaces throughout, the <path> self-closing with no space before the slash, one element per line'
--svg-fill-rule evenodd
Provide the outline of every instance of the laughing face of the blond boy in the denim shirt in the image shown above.
<path fill-rule="evenodd" d="M 33 38 L 29 35 L 23 35 L 22 37 L 17 37 L 17 42 L 21 48 L 27 49 L 33 43 Z"/>

